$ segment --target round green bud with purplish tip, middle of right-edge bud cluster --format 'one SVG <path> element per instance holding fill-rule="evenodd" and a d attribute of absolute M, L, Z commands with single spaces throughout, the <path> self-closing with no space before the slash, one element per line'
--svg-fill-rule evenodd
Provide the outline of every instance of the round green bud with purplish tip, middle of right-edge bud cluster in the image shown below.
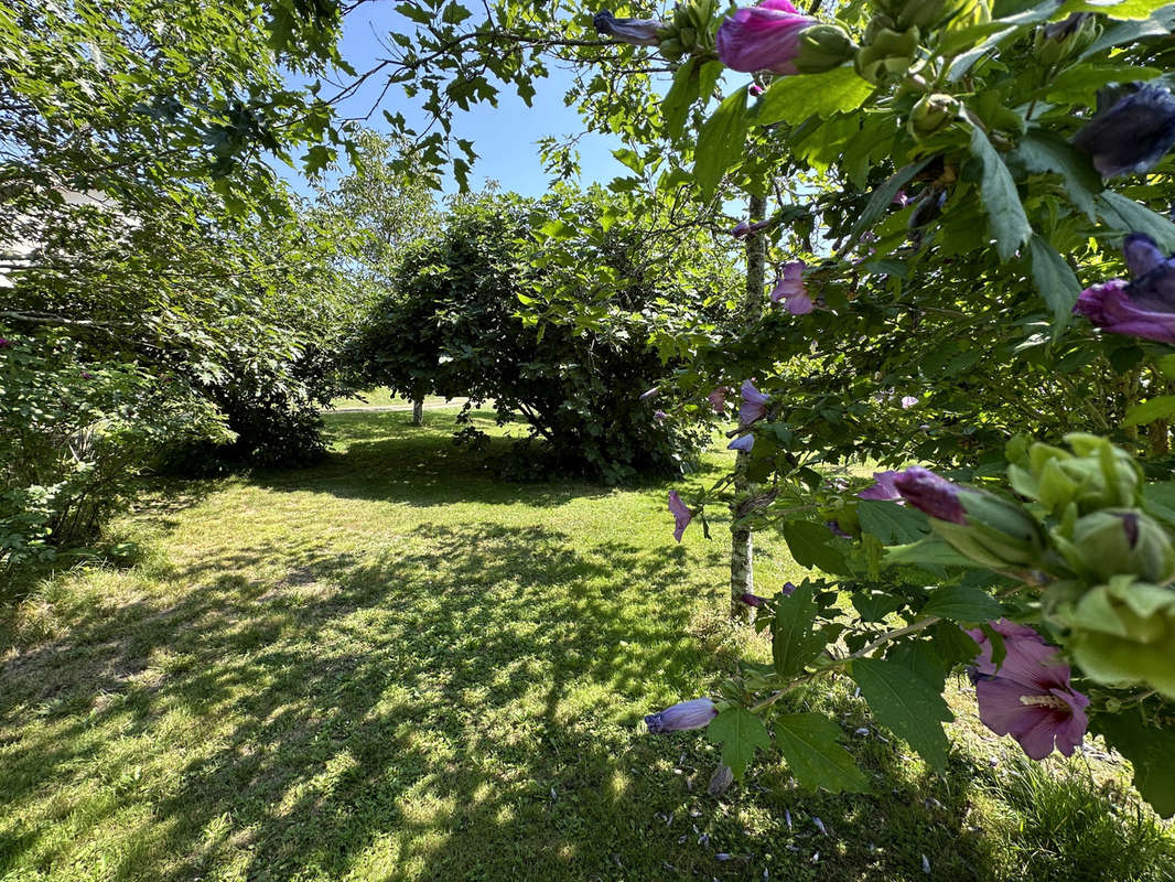
<path fill-rule="evenodd" d="M 1162 583 L 1175 576 L 1175 548 L 1167 530 L 1134 508 L 1107 508 L 1080 519 L 1073 548 L 1099 579 L 1119 574 Z"/>

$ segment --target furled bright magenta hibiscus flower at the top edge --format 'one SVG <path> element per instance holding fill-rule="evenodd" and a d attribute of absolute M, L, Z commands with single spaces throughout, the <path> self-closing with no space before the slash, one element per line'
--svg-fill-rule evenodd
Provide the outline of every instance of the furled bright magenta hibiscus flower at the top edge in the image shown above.
<path fill-rule="evenodd" d="M 799 73 L 800 34 L 815 24 L 787 0 L 764 0 L 736 9 L 718 27 L 718 60 L 732 71 L 771 71 L 781 76 Z"/>

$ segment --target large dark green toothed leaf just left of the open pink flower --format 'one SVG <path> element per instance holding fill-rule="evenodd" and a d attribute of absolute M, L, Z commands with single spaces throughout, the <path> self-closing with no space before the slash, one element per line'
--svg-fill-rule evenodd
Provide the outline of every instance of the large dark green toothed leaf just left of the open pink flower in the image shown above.
<path fill-rule="evenodd" d="M 946 768 L 949 743 L 942 722 L 954 714 L 931 683 L 880 659 L 857 659 L 850 675 L 882 726 L 908 741 L 932 768 Z"/>

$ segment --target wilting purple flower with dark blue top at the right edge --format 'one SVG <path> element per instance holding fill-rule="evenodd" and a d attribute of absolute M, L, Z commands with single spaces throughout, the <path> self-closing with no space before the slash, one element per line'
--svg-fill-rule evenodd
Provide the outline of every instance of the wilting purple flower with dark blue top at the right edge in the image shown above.
<path fill-rule="evenodd" d="M 1144 233 L 1128 235 L 1122 249 L 1134 280 L 1110 279 L 1086 288 L 1073 312 L 1108 334 L 1175 346 L 1175 256 L 1164 258 Z"/>

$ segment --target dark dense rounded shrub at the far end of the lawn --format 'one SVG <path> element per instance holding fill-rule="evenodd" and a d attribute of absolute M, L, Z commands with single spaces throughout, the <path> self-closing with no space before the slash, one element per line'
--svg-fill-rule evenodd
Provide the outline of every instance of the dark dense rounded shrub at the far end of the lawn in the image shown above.
<path fill-rule="evenodd" d="M 412 246 L 352 347 L 358 373 L 409 397 L 469 396 L 492 402 L 503 421 L 521 416 L 545 443 L 523 448 L 525 463 L 509 468 L 516 476 L 680 473 L 707 429 L 689 416 L 660 420 L 665 400 L 640 399 L 673 369 L 649 346 L 643 315 L 666 292 L 640 276 L 636 240 L 617 232 L 595 255 L 627 280 L 612 294 L 611 320 L 530 320 L 524 303 L 551 278 L 529 260 L 533 213 L 517 198 L 484 198 Z"/>

